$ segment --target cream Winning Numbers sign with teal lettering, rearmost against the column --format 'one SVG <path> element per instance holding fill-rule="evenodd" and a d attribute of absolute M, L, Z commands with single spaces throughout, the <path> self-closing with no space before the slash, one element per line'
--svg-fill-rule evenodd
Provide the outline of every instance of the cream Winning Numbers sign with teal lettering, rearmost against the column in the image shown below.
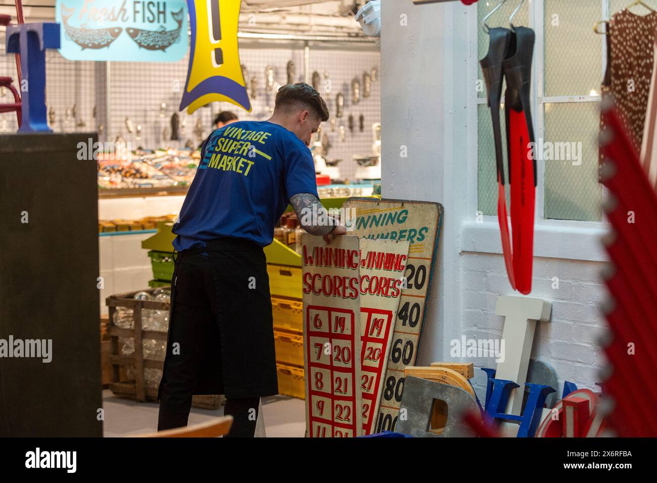
<path fill-rule="evenodd" d="M 344 203 L 350 235 L 410 244 L 390 356 L 383 379 L 378 417 L 372 431 L 394 430 L 403 391 L 404 367 L 415 364 L 426 299 L 440 240 L 443 207 L 439 203 L 350 198 Z"/>

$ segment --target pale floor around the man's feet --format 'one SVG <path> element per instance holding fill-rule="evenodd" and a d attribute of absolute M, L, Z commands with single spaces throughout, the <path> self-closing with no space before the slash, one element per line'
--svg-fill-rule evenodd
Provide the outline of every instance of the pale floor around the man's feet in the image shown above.
<path fill-rule="evenodd" d="M 104 430 L 106 438 L 155 432 L 158 425 L 158 404 L 138 403 L 117 398 L 110 390 L 102 392 Z M 288 396 L 263 398 L 265 431 L 268 438 L 303 438 L 306 430 L 304 400 Z M 223 415 L 223 407 L 217 411 L 192 408 L 189 424 L 210 421 Z"/>

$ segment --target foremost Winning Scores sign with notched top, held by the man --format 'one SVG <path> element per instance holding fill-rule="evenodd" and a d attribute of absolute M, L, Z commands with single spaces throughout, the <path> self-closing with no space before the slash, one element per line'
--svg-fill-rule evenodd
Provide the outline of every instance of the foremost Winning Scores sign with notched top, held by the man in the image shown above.
<path fill-rule="evenodd" d="M 359 239 L 302 235 L 306 436 L 363 431 Z"/>

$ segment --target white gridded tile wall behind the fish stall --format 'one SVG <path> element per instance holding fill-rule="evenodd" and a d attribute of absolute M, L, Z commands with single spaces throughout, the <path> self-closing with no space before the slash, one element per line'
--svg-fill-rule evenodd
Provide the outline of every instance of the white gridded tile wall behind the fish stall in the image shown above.
<path fill-rule="evenodd" d="M 4 53 L 4 32 L 0 32 L 0 76 L 11 76 L 16 80 L 16 66 L 13 55 Z M 248 69 L 247 76 L 258 78 L 258 93 L 251 99 L 252 112 L 248 113 L 229 103 L 213 103 L 196 110 L 191 116 L 179 112 L 181 91 L 185 87 L 188 58 L 179 62 L 111 62 L 107 68 L 104 62 L 73 62 L 62 58 L 57 51 L 47 51 L 47 103 L 49 109 L 55 110 L 55 131 L 90 131 L 97 130 L 102 124 L 102 140 L 114 141 L 121 136 L 133 147 L 183 147 L 190 140 L 199 145 L 200 137 L 193 133 L 196 120 L 200 119 L 203 136 L 210 133 L 212 120 L 221 110 L 232 110 L 242 119 L 263 120 L 271 115 L 274 95 L 265 89 L 265 67 L 275 67 L 275 79 L 286 83 L 286 64 L 292 60 L 296 66 L 295 81 L 303 81 L 304 43 L 300 41 L 261 41 L 254 39 L 240 40 L 240 61 Z M 336 131 L 331 132 L 330 122 L 325 127 L 332 147 L 328 158 L 342 159 L 340 168 L 342 177 L 355 175 L 357 164 L 354 154 L 371 154 L 372 124 L 380 122 L 380 81 L 372 84 L 371 97 L 353 104 L 351 99 L 351 80 L 359 78 L 363 83 L 363 73 L 371 72 L 373 67 L 380 70 L 380 53 L 373 45 L 349 43 L 311 43 L 310 72 L 317 70 L 320 74 L 328 72 L 331 80 L 331 93 L 326 95 L 331 114 L 335 113 L 335 97 L 340 91 L 345 97 L 344 116 L 336 120 Z M 106 83 L 109 80 L 108 108 L 109 126 L 105 126 Z M 322 86 L 323 87 L 323 86 Z M 361 93 L 363 86 L 361 85 Z M 0 93 L 2 95 L 2 93 Z M 12 101 L 11 93 L 5 91 L 0 103 Z M 164 112 L 160 105 L 166 103 Z M 75 120 L 72 108 L 76 106 Z M 97 106 L 96 118 L 93 117 Z M 171 141 L 171 116 L 178 113 L 180 124 L 185 127 L 180 133 L 180 141 Z M 162 116 L 161 116 L 162 114 Z M 354 129 L 348 129 L 348 116 L 353 114 Z M 363 114 L 365 126 L 359 131 L 359 116 Z M 141 139 L 136 133 L 129 133 L 125 119 L 129 118 L 135 126 L 142 126 Z M 84 123 L 85 126 L 78 126 Z M 346 139 L 339 141 L 340 124 L 346 128 Z M 16 116 L 0 114 L 0 130 L 15 131 Z M 163 135 L 163 131 L 164 135 Z"/>

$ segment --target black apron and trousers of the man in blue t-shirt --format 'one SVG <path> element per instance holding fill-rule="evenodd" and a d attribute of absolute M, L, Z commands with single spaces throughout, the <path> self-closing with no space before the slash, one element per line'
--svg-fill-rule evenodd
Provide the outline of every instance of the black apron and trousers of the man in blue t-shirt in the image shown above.
<path fill-rule="evenodd" d="M 225 394 L 229 436 L 253 436 L 260 397 L 278 392 L 266 260 L 250 242 L 207 244 L 175 262 L 158 430 L 187 425 L 193 394 Z"/>

